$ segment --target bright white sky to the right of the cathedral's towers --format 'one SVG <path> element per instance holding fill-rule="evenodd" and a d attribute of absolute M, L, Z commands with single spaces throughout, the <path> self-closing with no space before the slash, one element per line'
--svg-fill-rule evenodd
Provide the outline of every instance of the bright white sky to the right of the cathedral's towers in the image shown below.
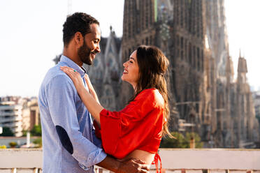
<path fill-rule="evenodd" d="M 260 91 L 260 1 L 225 0 L 229 54 L 236 77 L 238 57 L 247 60 L 247 81 L 252 91 Z"/>

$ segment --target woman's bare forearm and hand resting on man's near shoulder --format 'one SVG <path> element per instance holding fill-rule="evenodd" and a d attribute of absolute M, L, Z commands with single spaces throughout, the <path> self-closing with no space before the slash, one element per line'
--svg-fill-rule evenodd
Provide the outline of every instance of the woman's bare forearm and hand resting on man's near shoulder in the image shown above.
<path fill-rule="evenodd" d="M 80 73 L 73 70 L 73 68 L 69 68 L 66 66 L 61 66 L 61 70 L 64 71 L 69 77 L 71 77 L 71 80 L 73 81 L 73 84 L 75 85 L 75 88 L 78 91 L 78 95 L 80 96 L 82 102 L 87 107 L 87 110 L 89 110 L 90 114 L 94 116 L 94 119 L 97 123 L 99 123 L 100 126 L 100 112 L 103 110 L 103 107 L 99 105 L 99 103 L 93 98 L 93 96 L 85 89 L 82 78 L 80 76 Z"/>

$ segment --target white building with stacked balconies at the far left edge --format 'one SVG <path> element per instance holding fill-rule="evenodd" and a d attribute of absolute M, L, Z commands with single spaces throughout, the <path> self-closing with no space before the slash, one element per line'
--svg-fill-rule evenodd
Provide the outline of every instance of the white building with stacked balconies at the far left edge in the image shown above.
<path fill-rule="evenodd" d="M 10 128 L 16 137 L 22 136 L 22 105 L 0 102 L 0 126 Z"/>

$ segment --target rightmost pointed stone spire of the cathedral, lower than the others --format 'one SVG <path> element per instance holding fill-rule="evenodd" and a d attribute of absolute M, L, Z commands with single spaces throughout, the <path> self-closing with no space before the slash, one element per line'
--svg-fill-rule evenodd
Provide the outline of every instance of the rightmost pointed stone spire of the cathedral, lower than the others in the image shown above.
<path fill-rule="evenodd" d="M 238 78 L 236 81 L 236 117 L 234 121 L 234 133 L 236 147 L 243 147 L 247 142 L 259 140 L 259 133 L 255 123 L 254 105 L 250 85 L 247 83 L 247 61 L 241 54 L 238 59 Z"/>

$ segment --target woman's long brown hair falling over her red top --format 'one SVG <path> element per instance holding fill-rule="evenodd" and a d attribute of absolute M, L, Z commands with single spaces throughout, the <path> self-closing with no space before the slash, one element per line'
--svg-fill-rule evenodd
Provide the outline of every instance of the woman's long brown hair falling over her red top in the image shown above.
<path fill-rule="evenodd" d="M 158 89 L 161 96 L 164 98 L 164 119 L 166 119 L 166 123 L 164 123 L 163 135 L 173 137 L 168 130 L 170 111 L 167 84 L 164 78 L 169 61 L 159 48 L 147 45 L 140 45 L 137 48 L 136 58 L 139 67 L 139 80 L 136 84 L 133 99 L 144 89 Z"/>

